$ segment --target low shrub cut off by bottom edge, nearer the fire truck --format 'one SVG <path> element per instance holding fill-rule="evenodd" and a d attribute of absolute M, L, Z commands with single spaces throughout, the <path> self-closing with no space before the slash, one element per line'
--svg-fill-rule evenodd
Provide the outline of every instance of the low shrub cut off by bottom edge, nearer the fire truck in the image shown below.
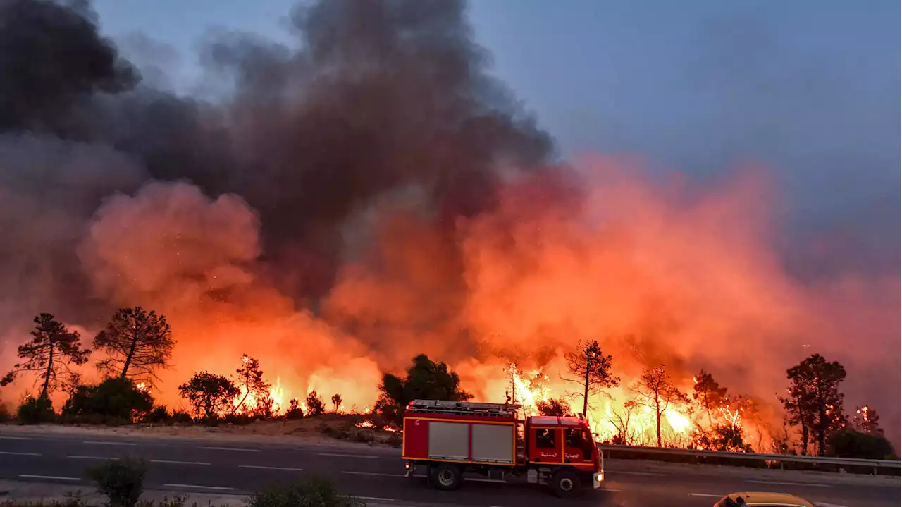
<path fill-rule="evenodd" d="M 335 484 L 317 475 L 295 483 L 273 484 L 253 493 L 247 507 L 364 507 L 349 496 L 338 494 Z"/>

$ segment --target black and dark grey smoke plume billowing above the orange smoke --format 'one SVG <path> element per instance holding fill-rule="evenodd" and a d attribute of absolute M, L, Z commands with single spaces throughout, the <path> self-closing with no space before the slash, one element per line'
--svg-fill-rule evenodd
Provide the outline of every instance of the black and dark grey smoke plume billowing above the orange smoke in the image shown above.
<path fill-rule="evenodd" d="M 299 51 L 243 34 L 208 45 L 202 60 L 234 88 L 210 104 L 141 84 L 87 2 L 0 0 L 0 133 L 87 143 L 133 159 L 146 178 L 240 194 L 260 213 L 272 272 L 314 297 L 333 282 L 340 226 L 374 198 L 426 189 L 450 231 L 455 217 L 491 206 L 495 167 L 551 152 L 486 73 L 465 2 L 324 0 L 291 20 Z M 53 206 L 73 220 L 110 189 L 134 189 L 132 170 L 103 191 L 75 167 L 53 171 L 72 194 Z"/>

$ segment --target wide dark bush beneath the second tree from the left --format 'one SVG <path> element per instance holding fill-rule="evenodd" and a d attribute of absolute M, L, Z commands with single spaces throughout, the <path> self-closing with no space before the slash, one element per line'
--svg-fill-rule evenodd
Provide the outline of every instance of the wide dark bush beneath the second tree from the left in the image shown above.
<path fill-rule="evenodd" d="M 73 422 L 118 425 L 141 419 L 152 409 L 151 394 L 138 389 L 132 379 L 110 377 L 96 385 L 79 385 L 62 414 Z"/>

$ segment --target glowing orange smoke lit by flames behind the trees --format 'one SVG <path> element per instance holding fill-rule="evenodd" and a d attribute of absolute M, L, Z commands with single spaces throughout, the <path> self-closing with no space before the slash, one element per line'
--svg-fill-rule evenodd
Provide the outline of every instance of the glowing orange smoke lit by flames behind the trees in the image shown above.
<path fill-rule="evenodd" d="M 79 255 L 93 295 L 169 318 L 178 346 L 154 394 L 176 406 L 175 386 L 199 370 L 234 373 L 244 352 L 284 400 L 316 389 L 364 410 L 381 373 L 419 353 L 450 364 L 478 400 L 504 400 L 511 363 L 547 375 L 541 396 L 557 398 L 572 388 L 558 379 L 563 354 L 596 339 L 621 377 L 612 399 L 591 401 L 600 432 L 612 431 L 641 369 L 659 363 L 683 392 L 693 373 L 712 372 L 760 401 L 762 425 L 777 424 L 787 367 L 815 351 L 846 365 L 849 403 L 881 399 L 890 436 L 902 426 L 882 387 L 902 381 L 902 278 L 789 276 L 773 247 L 779 201 L 767 171 L 701 187 L 638 161 L 588 158 L 551 174 L 573 180 L 511 178 L 491 212 L 454 222 L 415 191 L 362 209 L 316 312 L 257 274 L 253 209 L 187 183 L 109 198 Z M 648 411 L 636 414 L 647 425 Z M 691 432 L 685 410 L 666 416 L 675 437 Z"/>

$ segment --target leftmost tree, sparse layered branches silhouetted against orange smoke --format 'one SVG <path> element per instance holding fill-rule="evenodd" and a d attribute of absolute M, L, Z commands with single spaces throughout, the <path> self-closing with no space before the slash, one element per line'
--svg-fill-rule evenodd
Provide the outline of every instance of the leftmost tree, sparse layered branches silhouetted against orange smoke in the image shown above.
<path fill-rule="evenodd" d="M 32 339 L 19 346 L 17 355 L 25 360 L 13 365 L 13 370 L 0 380 L 0 386 L 12 383 L 22 372 L 39 372 L 41 394 L 38 400 L 49 400 L 50 393 L 63 383 L 62 373 L 74 374 L 70 364 L 85 364 L 90 350 L 81 348 L 81 336 L 77 331 L 69 331 L 49 313 L 41 313 L 34 318 Z"/>

